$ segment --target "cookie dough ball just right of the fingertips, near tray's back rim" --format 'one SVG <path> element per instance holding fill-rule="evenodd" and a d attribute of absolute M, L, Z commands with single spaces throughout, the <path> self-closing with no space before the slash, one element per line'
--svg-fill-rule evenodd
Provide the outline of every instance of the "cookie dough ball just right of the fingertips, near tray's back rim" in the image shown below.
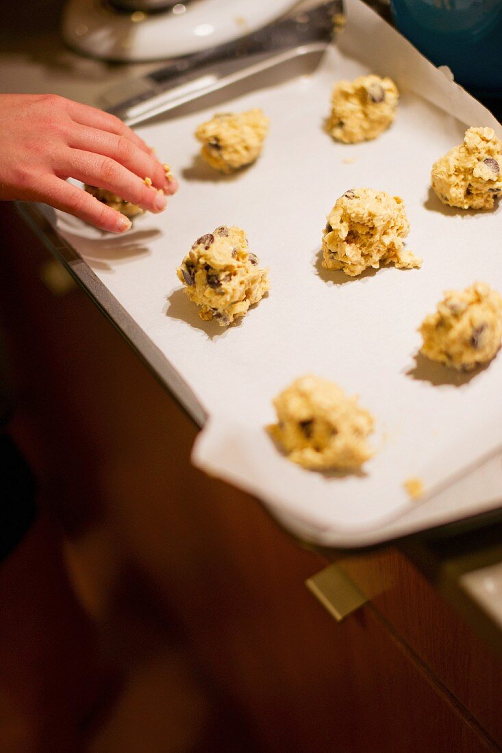
<path fill-rule="evenodd" d="M 259 109 L 216 114 L 195 131 L 202 143 L 200 154 L 216 170 L 234 172 L 259 157 L 269 123 Z"/>

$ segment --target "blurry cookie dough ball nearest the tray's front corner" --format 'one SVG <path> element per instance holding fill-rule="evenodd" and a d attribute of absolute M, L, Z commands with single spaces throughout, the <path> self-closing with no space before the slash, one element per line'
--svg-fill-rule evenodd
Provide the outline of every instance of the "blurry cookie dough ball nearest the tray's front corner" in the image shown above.
<path fill-rule="evenodd" d="M 373 416 L 329 380 L 301 377 L 277 395 L 274 407 L 277 424 L 268 431 L 298 465 L 350 470 L 373 454 L 367 441 Z"/>

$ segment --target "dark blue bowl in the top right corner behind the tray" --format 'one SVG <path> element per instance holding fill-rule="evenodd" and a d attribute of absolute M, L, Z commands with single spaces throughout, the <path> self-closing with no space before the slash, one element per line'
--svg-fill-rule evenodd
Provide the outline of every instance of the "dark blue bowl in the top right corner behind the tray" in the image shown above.
<path fill-rule="evenodd" d="M 502 98 L 502 0 L 390 0 L 397 29 L 477 96 Z"/>

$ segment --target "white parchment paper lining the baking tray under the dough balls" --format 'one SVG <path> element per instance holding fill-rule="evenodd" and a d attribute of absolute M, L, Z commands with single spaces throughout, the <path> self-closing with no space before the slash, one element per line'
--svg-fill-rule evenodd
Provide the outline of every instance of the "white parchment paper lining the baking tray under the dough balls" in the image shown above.
<path fill-rule="evenodd" d="M 502 446 L 502 355 L 470 378 L 415 358 L 417 328 L 445 288 L 481 280 L 502 291 L 500 208 L 449 209 L 429 189 L 430 167 L 461 142 L 466 127 L 491 125 L 502 136 L 500 125 L 359 0 L 349 0 L 347 13 L 338 48 L 314 75 L 218 106 L 261 107 L 271 117 L 255 166 L 219 178 L 197 161 L 193 137 L 215 108 L 181 114 L 140 129 L 179 177 L 167 212 L 140 219 L 123 238 L 58 218 L 63 236 L 210 414 L 195 464 L 255 493 L 302 535 L 338 544 L 369 531 L 376 540 L 409 511 L 412 528 L 424 525 L 403 481 L 421 477 L 430 505 Z M 374 142 L 336 144 L 323 131 L 332 85 L 366 72 L 396 80 L 403 95 L 396 123 Z M 352 279 L 320 267 L 326 215 L 350 187 L 403 197 L 409 248 L 424 258 L 421 270 L 384 267 Z M 227 330 L 198 319 L 176 278 L 194 239 L 220 224 L 246 230 L 271 277 L 269 296 Z M 378 452 L 360 474 L 298 468 L 265 433 L 274 395 L 308 372 L 360 395 L 375 415 Z M 450 499 L 444 520 L 451 517 Z"/>

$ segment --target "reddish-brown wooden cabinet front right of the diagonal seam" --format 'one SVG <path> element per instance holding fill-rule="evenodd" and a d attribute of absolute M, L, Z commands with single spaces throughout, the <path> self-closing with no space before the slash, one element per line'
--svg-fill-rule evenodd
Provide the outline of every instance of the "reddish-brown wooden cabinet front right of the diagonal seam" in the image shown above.
<path fill-rule="evenodd" d="M 418 663 L 502 746 L 500 662 L 409 559 L 393 548 L 347 556 L 341 567 L 371 596 L 379 614 Z"/>

